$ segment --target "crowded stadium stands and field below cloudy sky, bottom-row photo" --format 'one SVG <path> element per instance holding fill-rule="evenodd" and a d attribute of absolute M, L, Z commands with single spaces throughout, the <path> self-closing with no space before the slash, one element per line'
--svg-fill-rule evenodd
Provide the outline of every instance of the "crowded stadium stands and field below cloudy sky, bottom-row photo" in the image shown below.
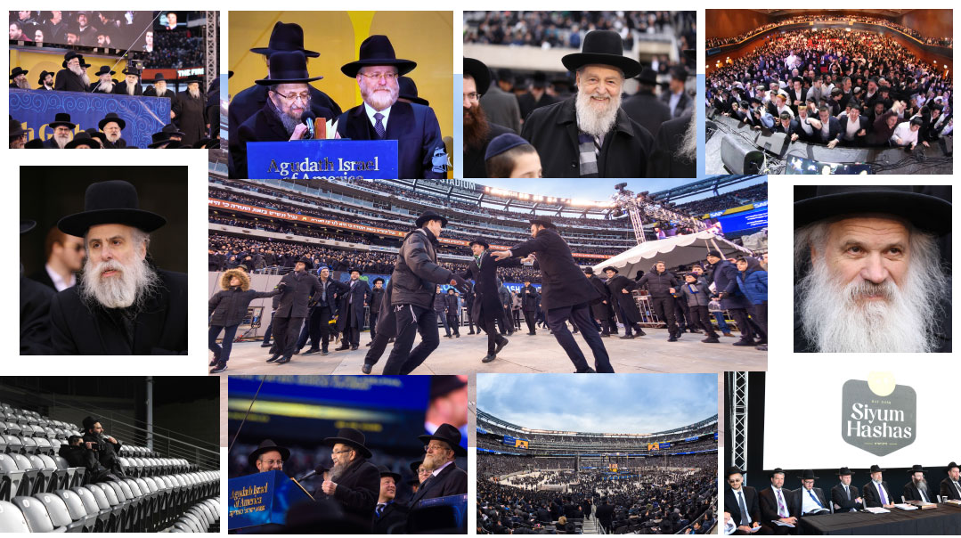
<path fill-rule="evenodd" d="M 477 410 L 478 533 L 707 534 L 718 416 L 645 434 L 524 428 Z"/>

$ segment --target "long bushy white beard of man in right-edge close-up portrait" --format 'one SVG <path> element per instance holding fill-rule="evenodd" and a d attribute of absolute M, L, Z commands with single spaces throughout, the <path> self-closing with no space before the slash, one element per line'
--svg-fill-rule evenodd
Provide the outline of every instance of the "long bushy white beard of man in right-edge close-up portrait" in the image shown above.
<path fill-rule="evenodd" d="M 821 226 L 815 224 L 812 226 Z M 824 225 L 826 226 L 826 225 Z M 796 247 L 799 241 L 796 232 Z M 818 250 L 822 250 L 819 248 Z M 911 232 L 910 262 L 903 286 L 894 281 L 838 281 L 824 257 L 798 282 L 798 310 L 804 335 L 819 353 L 930 353 L 939 316 L 937 298 L 950 290 L 934 238 Z M 858 301 L 865 292 L 885 299 Z"/>

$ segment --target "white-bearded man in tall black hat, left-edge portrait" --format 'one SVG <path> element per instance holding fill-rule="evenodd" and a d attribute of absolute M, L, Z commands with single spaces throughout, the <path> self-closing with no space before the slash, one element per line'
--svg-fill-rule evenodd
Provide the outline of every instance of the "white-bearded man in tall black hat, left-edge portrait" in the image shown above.
<path fill-rule="evenodd" d="M 148 256 L 150 232 L 166 222 L 139 208 L 131 183 L 86 188 L 84 211 L 57 223 L 84 237 L 86 262 L 51 303 L 54 355 L 186 354 L 186 275 Z"/>

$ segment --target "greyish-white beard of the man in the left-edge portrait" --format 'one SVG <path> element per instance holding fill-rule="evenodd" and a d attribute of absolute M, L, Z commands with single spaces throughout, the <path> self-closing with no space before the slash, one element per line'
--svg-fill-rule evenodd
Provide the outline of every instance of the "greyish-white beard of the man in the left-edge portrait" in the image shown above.
<path fill-rule="evenodd" d="M 115 270 L 117 274 L 104 279 L 100 275 L 107 270 Z M 146 258 L 136 260 L 129 266 L 115 259 L 94 264 L 86 258 L 80 280 L 78 290 L 81 299 L 105 308 L 139 307 L 160 285 L 160 277 Z"/>

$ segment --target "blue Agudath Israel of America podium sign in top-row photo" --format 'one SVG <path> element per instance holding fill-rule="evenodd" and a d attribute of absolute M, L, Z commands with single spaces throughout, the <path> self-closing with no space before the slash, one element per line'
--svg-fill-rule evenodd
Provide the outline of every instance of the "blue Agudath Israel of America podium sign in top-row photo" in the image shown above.
<path fill-rule="evenodd" d="M 397 140 L 248 142 L 247 177 L 396 180 Z"/>

